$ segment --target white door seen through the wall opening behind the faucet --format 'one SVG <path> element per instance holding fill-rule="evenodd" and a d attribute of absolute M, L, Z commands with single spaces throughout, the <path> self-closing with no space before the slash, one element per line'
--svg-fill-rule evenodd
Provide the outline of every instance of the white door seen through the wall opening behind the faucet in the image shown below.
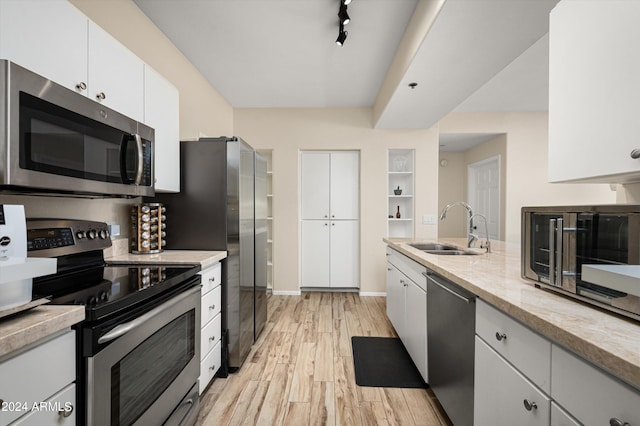
<path fill-rule="evenodd" d="M 500 156 L 491 157 L 468 167 L 468 202 L 473 212 L 487 218 L 489 237 L 500 239 Z M 475 219 L 476 234 L 485 237 L 484 222 Z"/>

